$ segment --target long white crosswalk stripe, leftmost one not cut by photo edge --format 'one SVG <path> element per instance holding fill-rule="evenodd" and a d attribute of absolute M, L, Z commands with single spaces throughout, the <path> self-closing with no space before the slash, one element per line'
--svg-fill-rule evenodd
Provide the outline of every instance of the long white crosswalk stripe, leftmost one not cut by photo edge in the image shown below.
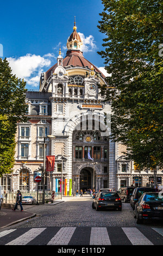
<path fill-rule="evenodd" d="M 32 241 L 37 235 L 40 235 L 45 229 L 46 228 L 32 228 L 6 245 L 27 245 L 28 242 Z"/>

